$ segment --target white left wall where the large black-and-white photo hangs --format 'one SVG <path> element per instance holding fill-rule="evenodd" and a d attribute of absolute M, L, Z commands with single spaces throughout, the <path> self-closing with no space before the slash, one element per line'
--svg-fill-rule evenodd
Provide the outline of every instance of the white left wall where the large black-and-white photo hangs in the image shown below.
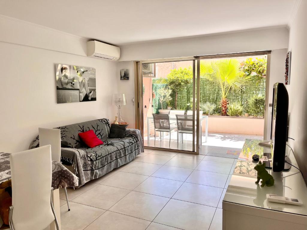
<path fill-rule="evenodd" d="M 0 152 L 28 149 L 38 127 L 114 118 L 115 62 L 80 56 L 84 40 L 20 21 L 0 18 L 0 31 Z M 57 104 L 55 63 L 94 67 L 97 101 Z"/>

